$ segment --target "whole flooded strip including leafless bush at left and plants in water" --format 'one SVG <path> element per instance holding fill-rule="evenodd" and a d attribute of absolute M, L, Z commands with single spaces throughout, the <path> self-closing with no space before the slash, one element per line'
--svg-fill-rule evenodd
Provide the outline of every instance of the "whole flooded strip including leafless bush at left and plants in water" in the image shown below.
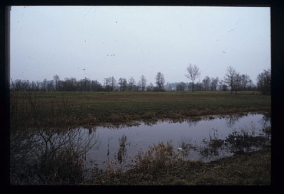
<path fill-rule="evenodd" d="M 206 116 L 178 122 L 138 123 L 131 127 L 108 125 L 90 129 L 33 129 L 21 136 L 11 136 L 11 142 L 16 142 L 11 147 L 11 166 L 19 165 L 14 169 L 21 168 L 21 173 L 26 175 L 23 168 L 26 165 L 30 173 L 36 174 L 37 171 L 43 177 L 42 173 L 47 173 L 49 179 L 52 178 L 50 171 L 54 166 L 61 166 L 54 171 L 61 171 L 67 179 L 88 179 L 96 177 L 109 166 L 113 169 L 131 168 L 138 153 L 145 153 L 160 142 L 171 142 L 180 160 L 209 162 L 269 145 L 269 127 L 270 114 L 251 113 Z M 21 139 L 21 143 L 17 138 Z M 22 152 L 17 153 L 17 150 Z M 19 174 L 15 176 L 21 177 Z"/>

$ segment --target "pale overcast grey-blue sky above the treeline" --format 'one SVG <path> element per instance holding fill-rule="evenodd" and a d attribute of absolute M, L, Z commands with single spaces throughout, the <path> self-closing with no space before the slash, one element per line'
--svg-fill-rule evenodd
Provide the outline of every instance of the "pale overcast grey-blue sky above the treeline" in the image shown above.
<path fill-rule="evenodd" d="M 10 32 L 13 80 L 188 82 L 192 63 L 200 80 L 232 66 L 255 83 L 271 63 L 270 8 L 12 6 Z"/>

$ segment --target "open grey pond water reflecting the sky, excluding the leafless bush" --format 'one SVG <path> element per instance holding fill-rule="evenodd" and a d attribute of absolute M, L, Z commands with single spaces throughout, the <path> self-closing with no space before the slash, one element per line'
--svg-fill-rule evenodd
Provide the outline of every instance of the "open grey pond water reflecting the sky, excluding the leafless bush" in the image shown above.
<path fill-rule="evenodd" d="M 233 155 L 233 147 L 218 146 L 212 149 L 212 140 L 226 140 L 230 134 L 245 131 L 248 136 L 264 136 L 263 128 L 270 126 L 270 116 L 267 114 L 246 114 L 210 116 L 195 118 L 181 122 L 159 121 L 155 124 L 140 123 L 132 127 L 96 127 L 80 131 L 83 137 L 96 136 L 98 147 L 90 149 L 85 155 L 86 166 L 97 166 L 105 169 L 106 161 L 113 161 L 114 168 L 127 168 L 138 151 L 144 153 L 159 142 L 171 141 L 174 149 L 186 151 L 185 160 L 201 160 L 209 162 L 224 156 Z M 211 145 L 211 147 L 210 147 Z M 210 149 L 211 148 L 211 149 Z M 247 147 L 248 149 L 248 147 Z M 252 145 L 250 150 L 259 149 Z M 91 160 L 91 162 L 89 162 Z"/>

